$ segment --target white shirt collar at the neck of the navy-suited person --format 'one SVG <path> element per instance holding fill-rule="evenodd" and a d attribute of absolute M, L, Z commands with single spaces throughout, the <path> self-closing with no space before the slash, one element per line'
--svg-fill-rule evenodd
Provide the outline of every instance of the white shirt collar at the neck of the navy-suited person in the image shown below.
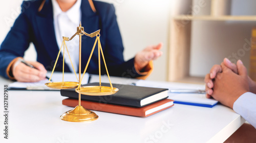
<path fill-rule="evenodd" d="M 68 18 L 75 24 L 79 24 L 81 20 L 81 0 L 77 0 L 76 3 L 66 12 L 63 12 L 56 0 L 52 0 L 53 17 L 57 18 L 58 15 L 65 13 Z"/>

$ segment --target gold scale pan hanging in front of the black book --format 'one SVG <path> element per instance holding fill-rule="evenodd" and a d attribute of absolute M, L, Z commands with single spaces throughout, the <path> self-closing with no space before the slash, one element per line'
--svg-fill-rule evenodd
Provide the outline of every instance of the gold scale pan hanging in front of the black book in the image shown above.
<path fill-rule="evenodd" d="M 103 87 L 101 86 L 86 86 L 81 87 L 80 90 L 76 89 L 77 93 L 84 94 L 84 95 L 91 95 L 91 96 L 104 96 L 104 95 L 112 95 L 118 92 L 117 88 L 111 89 L 111 87 Z"/>

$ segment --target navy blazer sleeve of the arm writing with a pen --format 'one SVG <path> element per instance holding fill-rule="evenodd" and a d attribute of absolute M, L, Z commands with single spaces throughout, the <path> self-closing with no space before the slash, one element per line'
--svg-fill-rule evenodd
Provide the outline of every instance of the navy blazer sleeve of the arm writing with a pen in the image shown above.
<path fill-rule="evenodd" d="M 24 8 L 23 5 L 22 8 Z M 23 57 L 28 49 L 31 41 L 29 27 L 30 24 L 23 9 L 0 47 L 0 75 L 3 77 L 8 78 L 6 69 L 10 62 L 18 56 Z"/>

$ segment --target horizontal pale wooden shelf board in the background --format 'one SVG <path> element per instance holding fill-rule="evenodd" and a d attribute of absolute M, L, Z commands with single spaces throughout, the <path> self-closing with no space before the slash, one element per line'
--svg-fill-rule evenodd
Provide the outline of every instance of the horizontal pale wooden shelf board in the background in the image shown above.
<path fill-rule="evenodd" d="M 191 16 L 179 15 L 174 17 L 175 20 L 212 20 L 212 21 L 256 21 L 256 16 Z"/>

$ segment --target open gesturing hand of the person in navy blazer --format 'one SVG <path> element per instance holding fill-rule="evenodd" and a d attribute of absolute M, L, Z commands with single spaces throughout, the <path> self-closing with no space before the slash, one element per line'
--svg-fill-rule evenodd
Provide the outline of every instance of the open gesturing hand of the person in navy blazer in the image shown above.
<path fill-rule="evenodd" d="M 163 44 L 159 43 L 155 46 L 147 46 L 142 51 L 138 52 L 134 58 L 134 64 L 136 65 L 137 69 L 141 71 L 151 60 L 156 60 L 159 58 L 163 52 L 160 51 Z"/>

